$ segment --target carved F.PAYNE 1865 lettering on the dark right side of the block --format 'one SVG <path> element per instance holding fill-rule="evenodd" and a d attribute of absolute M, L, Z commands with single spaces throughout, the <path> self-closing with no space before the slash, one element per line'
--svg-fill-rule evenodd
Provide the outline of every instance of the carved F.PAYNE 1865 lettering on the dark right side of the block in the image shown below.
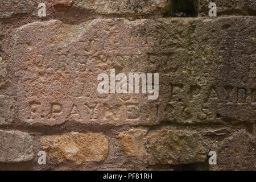
<path fill-rule="evenodd" d="M 233 121 L 246 119 L 255 113 L 255 93 L 255 88 L 236 88 L 230 85 L 204 88 L 200 85 L 171 84 L 169 100 L 163 104 L 160 120 L 213 123 L 230 122 L 231 118 L 234 118 Z M 243 109 L 247 111 L 246 117 L 241 114 L 245 112 Z M 226 115 L 226 110 L 237 111 L 237 114 Z"/>

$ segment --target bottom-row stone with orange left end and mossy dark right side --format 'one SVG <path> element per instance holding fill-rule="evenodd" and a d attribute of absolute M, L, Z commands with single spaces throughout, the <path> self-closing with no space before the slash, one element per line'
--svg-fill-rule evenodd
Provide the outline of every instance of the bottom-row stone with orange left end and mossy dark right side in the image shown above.
<path fill-rule="evenodd" d="M 189 164 L 207 160 L 200 134 L 169 128 L 131 129 L 117 136 L 123 151 L 149 165 Z"/>

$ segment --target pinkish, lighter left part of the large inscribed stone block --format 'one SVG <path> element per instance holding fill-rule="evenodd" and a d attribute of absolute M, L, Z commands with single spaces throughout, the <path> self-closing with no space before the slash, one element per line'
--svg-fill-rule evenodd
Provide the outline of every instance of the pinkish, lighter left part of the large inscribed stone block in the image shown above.
<path fill-rule="evenodd" d="M 131 30 L 127 31 L 129 26 Z M 149 102 L 145 94 L 97 92 L 100 82 L 97 75 L 109 74 L 109 68 L 124 73 L 142 70 L 144 63 L 139 63 L 142 45 L 145 46 L 140 35 L 142 28 L 141 22 L 110 19 L 77 26 L 52 20 L 19 28 L 14 55 L 20 64 L 16 68 L 19 117 L 31 124 L 45 125 L 65 121 L 113 125 L 157 123 L 157 105 Z M 123 40 L 118 43 L 123 31 Z M 135 35 L 130 37 L 133 31 Z M 127 42 L 130 45 L 125 46 Z M 130 64 L 131 61 L 135 64 Z"/>

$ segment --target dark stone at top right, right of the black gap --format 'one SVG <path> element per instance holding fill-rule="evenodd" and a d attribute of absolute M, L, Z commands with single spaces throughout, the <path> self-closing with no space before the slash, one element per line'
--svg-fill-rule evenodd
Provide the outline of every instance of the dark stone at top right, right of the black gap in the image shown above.
<path fill-rule="evenodd" d="M 217 16 L 223 15 L 256 15 L 256 2 L 254 0 L 214 0 L 217 5 Z M 200 0 L 199 14 L 209 16 L 209 1 Z"/>

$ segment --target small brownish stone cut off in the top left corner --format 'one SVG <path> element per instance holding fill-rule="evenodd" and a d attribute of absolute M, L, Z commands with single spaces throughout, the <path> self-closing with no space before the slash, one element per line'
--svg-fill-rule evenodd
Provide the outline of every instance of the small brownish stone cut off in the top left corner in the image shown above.
<path fill-rule="evenodd" d="M 10 18 L 16 14 L 28 14 L 36 10 L 39 0 L 5 0 L 0 1 L 0 18 Z"/>

